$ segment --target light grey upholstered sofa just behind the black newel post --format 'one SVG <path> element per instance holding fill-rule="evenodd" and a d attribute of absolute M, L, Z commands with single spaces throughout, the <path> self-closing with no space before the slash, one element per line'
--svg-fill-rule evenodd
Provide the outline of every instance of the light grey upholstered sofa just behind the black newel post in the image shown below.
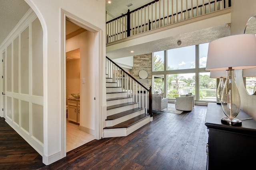
<path fill-rule="evenodd" d="M 142 96 L 144 97 L 144 105 L 146 103 L 146 95 L 138 95 L 138 100 L 139 100 L 139 96 L 140 96 L 140 101 L 142 102 Z M 149 107 L 148 104 L 148 95 L 147 95 L 147 109 Z M 168 99 L 167 98 L 162 98 L 162 96 L 159 96 L 158 94 L 152 94 L 152 109 L 153 110 L 158 110 L 161 111 L 162 109 L 166 109 L 168 107 Z"/>

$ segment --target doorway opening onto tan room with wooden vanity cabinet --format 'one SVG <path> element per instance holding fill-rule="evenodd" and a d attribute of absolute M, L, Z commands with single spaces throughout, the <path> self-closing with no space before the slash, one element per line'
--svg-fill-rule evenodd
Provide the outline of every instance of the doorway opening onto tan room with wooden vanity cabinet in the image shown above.
<path fill-rule="evenodd" d="M 86 67 L 83 61 L 88 60 L 84 59 L 88 56 L 86 32 L 90 31 L 66 20 L 66 152 L 95 139 L 95 135 L 87 126 L 86 117 L 91 113 L 85 109 L 92 106 L 83 100 L 84 89 L 90 88 L 87 87 L 90 80 L 84 78 L 86 76 L 81 69 Z M 71 95 L 73 93 L 79 93 L 80 98 L 74 98 Z"/>

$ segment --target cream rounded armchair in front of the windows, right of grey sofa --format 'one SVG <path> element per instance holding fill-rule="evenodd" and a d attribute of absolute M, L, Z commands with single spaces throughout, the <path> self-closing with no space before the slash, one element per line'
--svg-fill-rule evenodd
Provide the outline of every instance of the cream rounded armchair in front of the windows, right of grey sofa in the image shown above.
<path fill-rule="evenodd" d="M 174 103 L 175 103 L 175 109 L 177 110 L 191 111 L 193 110 L 194 96 L 176 97 L 176 100 Z"/>

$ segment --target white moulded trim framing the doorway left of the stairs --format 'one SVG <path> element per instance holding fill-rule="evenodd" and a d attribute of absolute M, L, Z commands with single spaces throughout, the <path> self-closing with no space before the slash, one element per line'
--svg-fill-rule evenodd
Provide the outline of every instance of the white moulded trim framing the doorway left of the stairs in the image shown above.
<path fill-rule="evenodd" d="M 95 84 L 102 84 L 102 30 L 81 18 L 74 16 L 73 14 L 61 9 L 61 113 L 66 113 L 66 20 L 95 33 Z M 101 139 L 102 128 L 101 128 L 101 96 L 102 89 L 95 88 L 95 138 Z M 62 158 L 66 156 L 66 114 L 61 115 L 61 156 Z"/>

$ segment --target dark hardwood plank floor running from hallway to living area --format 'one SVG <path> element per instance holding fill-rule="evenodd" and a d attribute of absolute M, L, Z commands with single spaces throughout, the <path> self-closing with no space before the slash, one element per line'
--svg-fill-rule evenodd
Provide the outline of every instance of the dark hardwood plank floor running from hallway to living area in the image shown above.
<path fill-rule="evenodd" d="M 154 120 L 127 137 L 94 140 L 48 166 L 0 118 L 0 169 L 205 170 L 206 106 L 180 115 L 154 111 Z"/>

